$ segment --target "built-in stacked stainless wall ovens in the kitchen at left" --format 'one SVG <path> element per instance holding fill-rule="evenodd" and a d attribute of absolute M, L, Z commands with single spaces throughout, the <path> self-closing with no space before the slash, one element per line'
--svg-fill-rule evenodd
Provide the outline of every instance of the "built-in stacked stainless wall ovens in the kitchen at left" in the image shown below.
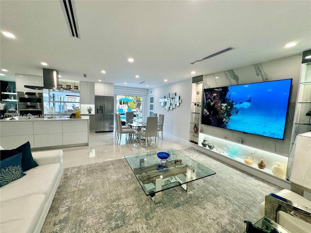
<path fill-rule="evenodd" d="M 43 114 L 43 94 L 35 92 L 17 92 L 18 111 L 20 115 Z"/>

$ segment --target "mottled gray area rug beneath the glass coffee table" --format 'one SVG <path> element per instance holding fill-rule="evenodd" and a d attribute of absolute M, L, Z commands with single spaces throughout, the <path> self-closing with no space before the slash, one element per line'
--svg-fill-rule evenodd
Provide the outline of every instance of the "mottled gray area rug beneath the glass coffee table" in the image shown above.
<path fill-rule="evenodd" d="M 146 196 L 125 159 L 64 169 L 42 233 L 243 233 L 280 187 L 193 148 L 179 150 L 216 174 Z"/>

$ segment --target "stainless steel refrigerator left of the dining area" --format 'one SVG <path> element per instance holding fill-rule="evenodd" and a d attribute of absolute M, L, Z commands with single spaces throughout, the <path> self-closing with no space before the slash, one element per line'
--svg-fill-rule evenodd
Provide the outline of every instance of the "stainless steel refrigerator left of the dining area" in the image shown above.
<path fill-rule="evenodd" d="M 113 97 L 95 96 L 95 133 L 113 132 Z"/>

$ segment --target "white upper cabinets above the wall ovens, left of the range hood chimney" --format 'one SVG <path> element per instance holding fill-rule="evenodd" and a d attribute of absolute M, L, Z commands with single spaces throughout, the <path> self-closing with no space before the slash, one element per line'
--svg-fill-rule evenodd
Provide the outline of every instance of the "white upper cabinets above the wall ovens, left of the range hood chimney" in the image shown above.
<path fill-rule="evenodd" d="M 26 88 L 25 85 L 43 86 L 42 76 L 28 75 L 28 74 L 16 74 L 16 90 L 17 91 L 42 93 L 42 90 L 29 89 L 29 88 Z"/>

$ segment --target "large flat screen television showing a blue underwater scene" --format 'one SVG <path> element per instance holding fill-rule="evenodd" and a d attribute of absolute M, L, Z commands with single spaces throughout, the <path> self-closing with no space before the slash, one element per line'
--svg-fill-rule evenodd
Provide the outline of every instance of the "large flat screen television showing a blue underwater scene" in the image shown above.
<path fill-rule="evenodd" d="M 207 88 L 201 123 L 284 139 L 292 79 Z"/>

